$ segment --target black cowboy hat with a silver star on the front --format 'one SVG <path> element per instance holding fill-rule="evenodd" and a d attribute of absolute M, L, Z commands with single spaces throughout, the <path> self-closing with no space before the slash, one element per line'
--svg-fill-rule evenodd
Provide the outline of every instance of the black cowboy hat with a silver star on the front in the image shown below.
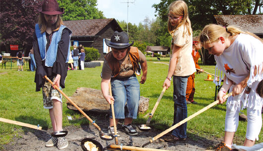
<path fill-rule="evenodd" d="M 111 37 L 111 41 L 105 39 L 105 43 L 111 48 L 123 49 L 132 46 L 134 41 L 130 44 L 126 32 L 119 33 L 118 31 L 115 31 Z"/>

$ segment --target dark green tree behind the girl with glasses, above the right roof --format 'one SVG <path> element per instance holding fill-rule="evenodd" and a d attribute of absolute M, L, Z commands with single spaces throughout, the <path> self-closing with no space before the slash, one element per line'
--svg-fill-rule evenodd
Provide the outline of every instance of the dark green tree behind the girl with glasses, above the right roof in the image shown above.
<path fill-rule="evenodd" d="M 161 0 L 153 4 L 155 11 L 163 21 L 167 21 L 167 8 L 174 0 Z M 188 4 L 193 30 L 203 28 L 206 24 L 215 23 L 213 15 L 252 14 L 251 10 L 263 7 L 263 0 L 185 0 Z M 254 14 L 254 12 L 253 12 Z"/>

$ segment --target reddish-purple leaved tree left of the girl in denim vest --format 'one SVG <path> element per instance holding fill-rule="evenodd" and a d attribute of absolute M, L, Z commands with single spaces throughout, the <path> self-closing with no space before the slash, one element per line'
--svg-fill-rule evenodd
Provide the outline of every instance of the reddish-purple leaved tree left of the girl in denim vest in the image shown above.
<path fill-rule="evenodd" d="M 23 50 L 32 47 L 32 35 L 41 0 L 0 0 L 0 44 L 9 51 L 9 45 Z"/>

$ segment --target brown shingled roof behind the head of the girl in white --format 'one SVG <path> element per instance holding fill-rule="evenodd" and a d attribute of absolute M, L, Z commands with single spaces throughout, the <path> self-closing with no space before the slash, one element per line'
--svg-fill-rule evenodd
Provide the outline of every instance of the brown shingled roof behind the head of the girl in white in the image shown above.
<path fill-rule="evenodd" d="M 235 25 L 243 31 L 263 33 L 263 15 L 214 15 L 218 25 Z"/>

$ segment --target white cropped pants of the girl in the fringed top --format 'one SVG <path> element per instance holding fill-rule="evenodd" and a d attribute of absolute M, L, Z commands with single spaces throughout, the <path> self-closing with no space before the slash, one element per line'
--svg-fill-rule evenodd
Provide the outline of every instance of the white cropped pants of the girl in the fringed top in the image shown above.
<path fill-rule="evenodd" d="M 239 111 L 242 107 L 242 101 L 226 105 L 225 131 L 236 132 L 239 121 Z M 261 109 L 247 108 L 247 133 L 246 138 L 252 141 L 259 140 L 259 134 L 262 127 Z"/>

